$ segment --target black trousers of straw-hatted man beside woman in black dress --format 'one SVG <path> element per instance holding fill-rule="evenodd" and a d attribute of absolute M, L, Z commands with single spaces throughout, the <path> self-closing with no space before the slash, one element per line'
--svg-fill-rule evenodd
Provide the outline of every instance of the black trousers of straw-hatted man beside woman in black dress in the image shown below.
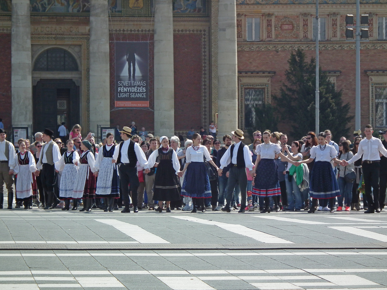
<path fill-rule="evenodd" d="M 137 167 L 131 165 L 120 164 L 120 192 L 122 194 L 122 200 L 126 208 L 129 208 L 129 184 L 130 192 L 132 193 L 132 204 L 137 206 L 137 189 L 139 188 L 139 176 L 137 175 Z"/>

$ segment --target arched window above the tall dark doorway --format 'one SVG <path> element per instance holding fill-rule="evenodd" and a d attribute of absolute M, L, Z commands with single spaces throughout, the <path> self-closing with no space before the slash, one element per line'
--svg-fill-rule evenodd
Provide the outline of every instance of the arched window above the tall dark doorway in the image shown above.
<path fill-rule="evenodd" d="M 78 64 L 74 56 L 62 48 L 50 48 L 43 51 L 34 64 L 34 71 L 68 72 L 77 71 Z"/>

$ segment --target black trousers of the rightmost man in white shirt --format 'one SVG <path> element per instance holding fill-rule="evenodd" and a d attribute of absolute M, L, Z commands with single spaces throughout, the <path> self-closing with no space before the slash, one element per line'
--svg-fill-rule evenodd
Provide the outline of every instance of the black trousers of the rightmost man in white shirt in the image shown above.
<path fill-rule="evenodd" d="M 365 187 L 365 194 L 367 196 L 368 208 L 375 210 L 379 207 L 379 169 L 380 163 L 366 163 L 362 164 L 363 180 Z M 372 187 L 372 189 L 371 189 Z"/>

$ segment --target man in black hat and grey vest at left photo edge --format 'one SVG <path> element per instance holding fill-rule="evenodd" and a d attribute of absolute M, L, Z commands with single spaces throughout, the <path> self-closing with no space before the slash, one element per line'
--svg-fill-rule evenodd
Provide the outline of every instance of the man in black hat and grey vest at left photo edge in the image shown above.
<path fill-rule="evenodd" d="M 14 190 L 12 189 L 14 179 L 12 179 L 12 175 L 16 165 L 15 147 L 11 142 L 5 140 L 6 133 L 4 129 L 0 129 L 0 208 L 3 208 L 3 184 L 5 183 L 8 191 L 8 209 L 12 210 L 12 201 L 14 199 Z"/>

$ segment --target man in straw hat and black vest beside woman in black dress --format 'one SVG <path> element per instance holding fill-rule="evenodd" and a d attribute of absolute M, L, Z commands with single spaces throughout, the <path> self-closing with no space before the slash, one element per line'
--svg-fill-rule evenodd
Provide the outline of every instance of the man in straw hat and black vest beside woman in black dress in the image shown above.
<path fill-rule="evenodd" d="M 132 193 L 133 211 L 139 212 L 137 207 L 137 188 L 140 183 L 136 165 L 137 161 L 139 161 L 140 166 L 144 167 L 145 173 L 148 173 L 148 161 L 146 160 L 144 151 L 142 151 L 139 143 L 134 142 L 130 138 L 132 137 L 132 130 L 129 127 L 123 127 L 120 133 L 123 142 L 115 147 L 112 162 L 116 162 L 120 165 L 118 169 L 120 172 L 120 191 L 125 205 L 125 208 L 121 212 L 130 212 L 129 184 L 130 192 Z"/>

